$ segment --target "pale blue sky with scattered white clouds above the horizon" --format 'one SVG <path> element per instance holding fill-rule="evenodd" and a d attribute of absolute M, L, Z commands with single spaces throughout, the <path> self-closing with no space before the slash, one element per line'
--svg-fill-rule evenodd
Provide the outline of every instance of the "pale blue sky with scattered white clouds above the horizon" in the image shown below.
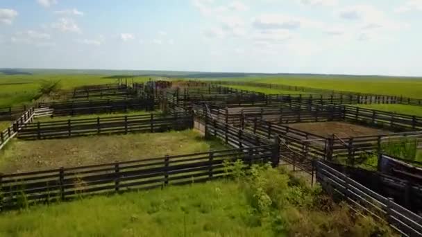
<path fill-rule="evenodd" d="M 422 76 L 422 0 L 1 0 L 0 67 Z"/>

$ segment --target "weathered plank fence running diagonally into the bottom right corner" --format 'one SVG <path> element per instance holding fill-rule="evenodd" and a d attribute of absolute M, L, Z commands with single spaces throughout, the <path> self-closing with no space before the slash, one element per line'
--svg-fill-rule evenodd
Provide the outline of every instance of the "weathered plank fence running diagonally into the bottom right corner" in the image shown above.
<path fill-rule="evenodd" d="M 412 213 L 393 200 L 375 193 L 366 186 L 340 173 L 335 168 L 314 161 L 316 180 L 334 196 L 351 203 L 360 212 L 369 213 L 378 220 L 387 220 L 389 224 L 404 236 L 422 236 L 422 217 Z"/>

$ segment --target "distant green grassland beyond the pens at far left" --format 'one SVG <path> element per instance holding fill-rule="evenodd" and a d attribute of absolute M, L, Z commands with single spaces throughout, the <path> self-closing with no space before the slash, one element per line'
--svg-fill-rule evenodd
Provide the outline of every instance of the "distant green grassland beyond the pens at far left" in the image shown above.
<path fill-rule="evenodd" d="M 84 85 L 99 85 L 116 83 L 116 79 L 105 78 L 103 75 L 3 75 L 0 74 L 0 107 L 31 103 L 40 94 L 43 81 L 60 81 L 60 89 L 73 89 Z M 136 77 L 135 82 L 144 82 L 149 77 Z M 128 83 L 132 80 L 128 79 Z"/>

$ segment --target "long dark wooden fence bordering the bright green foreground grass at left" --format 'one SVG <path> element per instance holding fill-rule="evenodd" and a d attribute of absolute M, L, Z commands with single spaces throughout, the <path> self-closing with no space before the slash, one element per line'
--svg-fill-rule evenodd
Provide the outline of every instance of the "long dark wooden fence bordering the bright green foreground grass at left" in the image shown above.
<path fill-rule="evenodd" d="M 230 173 L 225 162 L 267 163 L 274 145 L 217 150 L 111 164 L 0 175 L 0 208 L 71 200 L 167 185 L 192 184 Z M 226 173 L 225 170 L 228 170 Z M 22 202 L 22 200 L 25 200 Z"/>

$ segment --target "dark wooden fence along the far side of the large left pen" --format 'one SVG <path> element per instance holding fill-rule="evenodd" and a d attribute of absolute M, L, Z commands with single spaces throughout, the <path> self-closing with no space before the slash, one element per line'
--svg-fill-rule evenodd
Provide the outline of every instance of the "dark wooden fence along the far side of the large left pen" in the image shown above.
<path fill-rule="evenodd" d="M 144 114 L 37 122 L 19 131 L 19 139 L 58 139 L 92 134 L 127 134 L 130 132 L 164 132 L 193 128 L 192 114 Z"/>

